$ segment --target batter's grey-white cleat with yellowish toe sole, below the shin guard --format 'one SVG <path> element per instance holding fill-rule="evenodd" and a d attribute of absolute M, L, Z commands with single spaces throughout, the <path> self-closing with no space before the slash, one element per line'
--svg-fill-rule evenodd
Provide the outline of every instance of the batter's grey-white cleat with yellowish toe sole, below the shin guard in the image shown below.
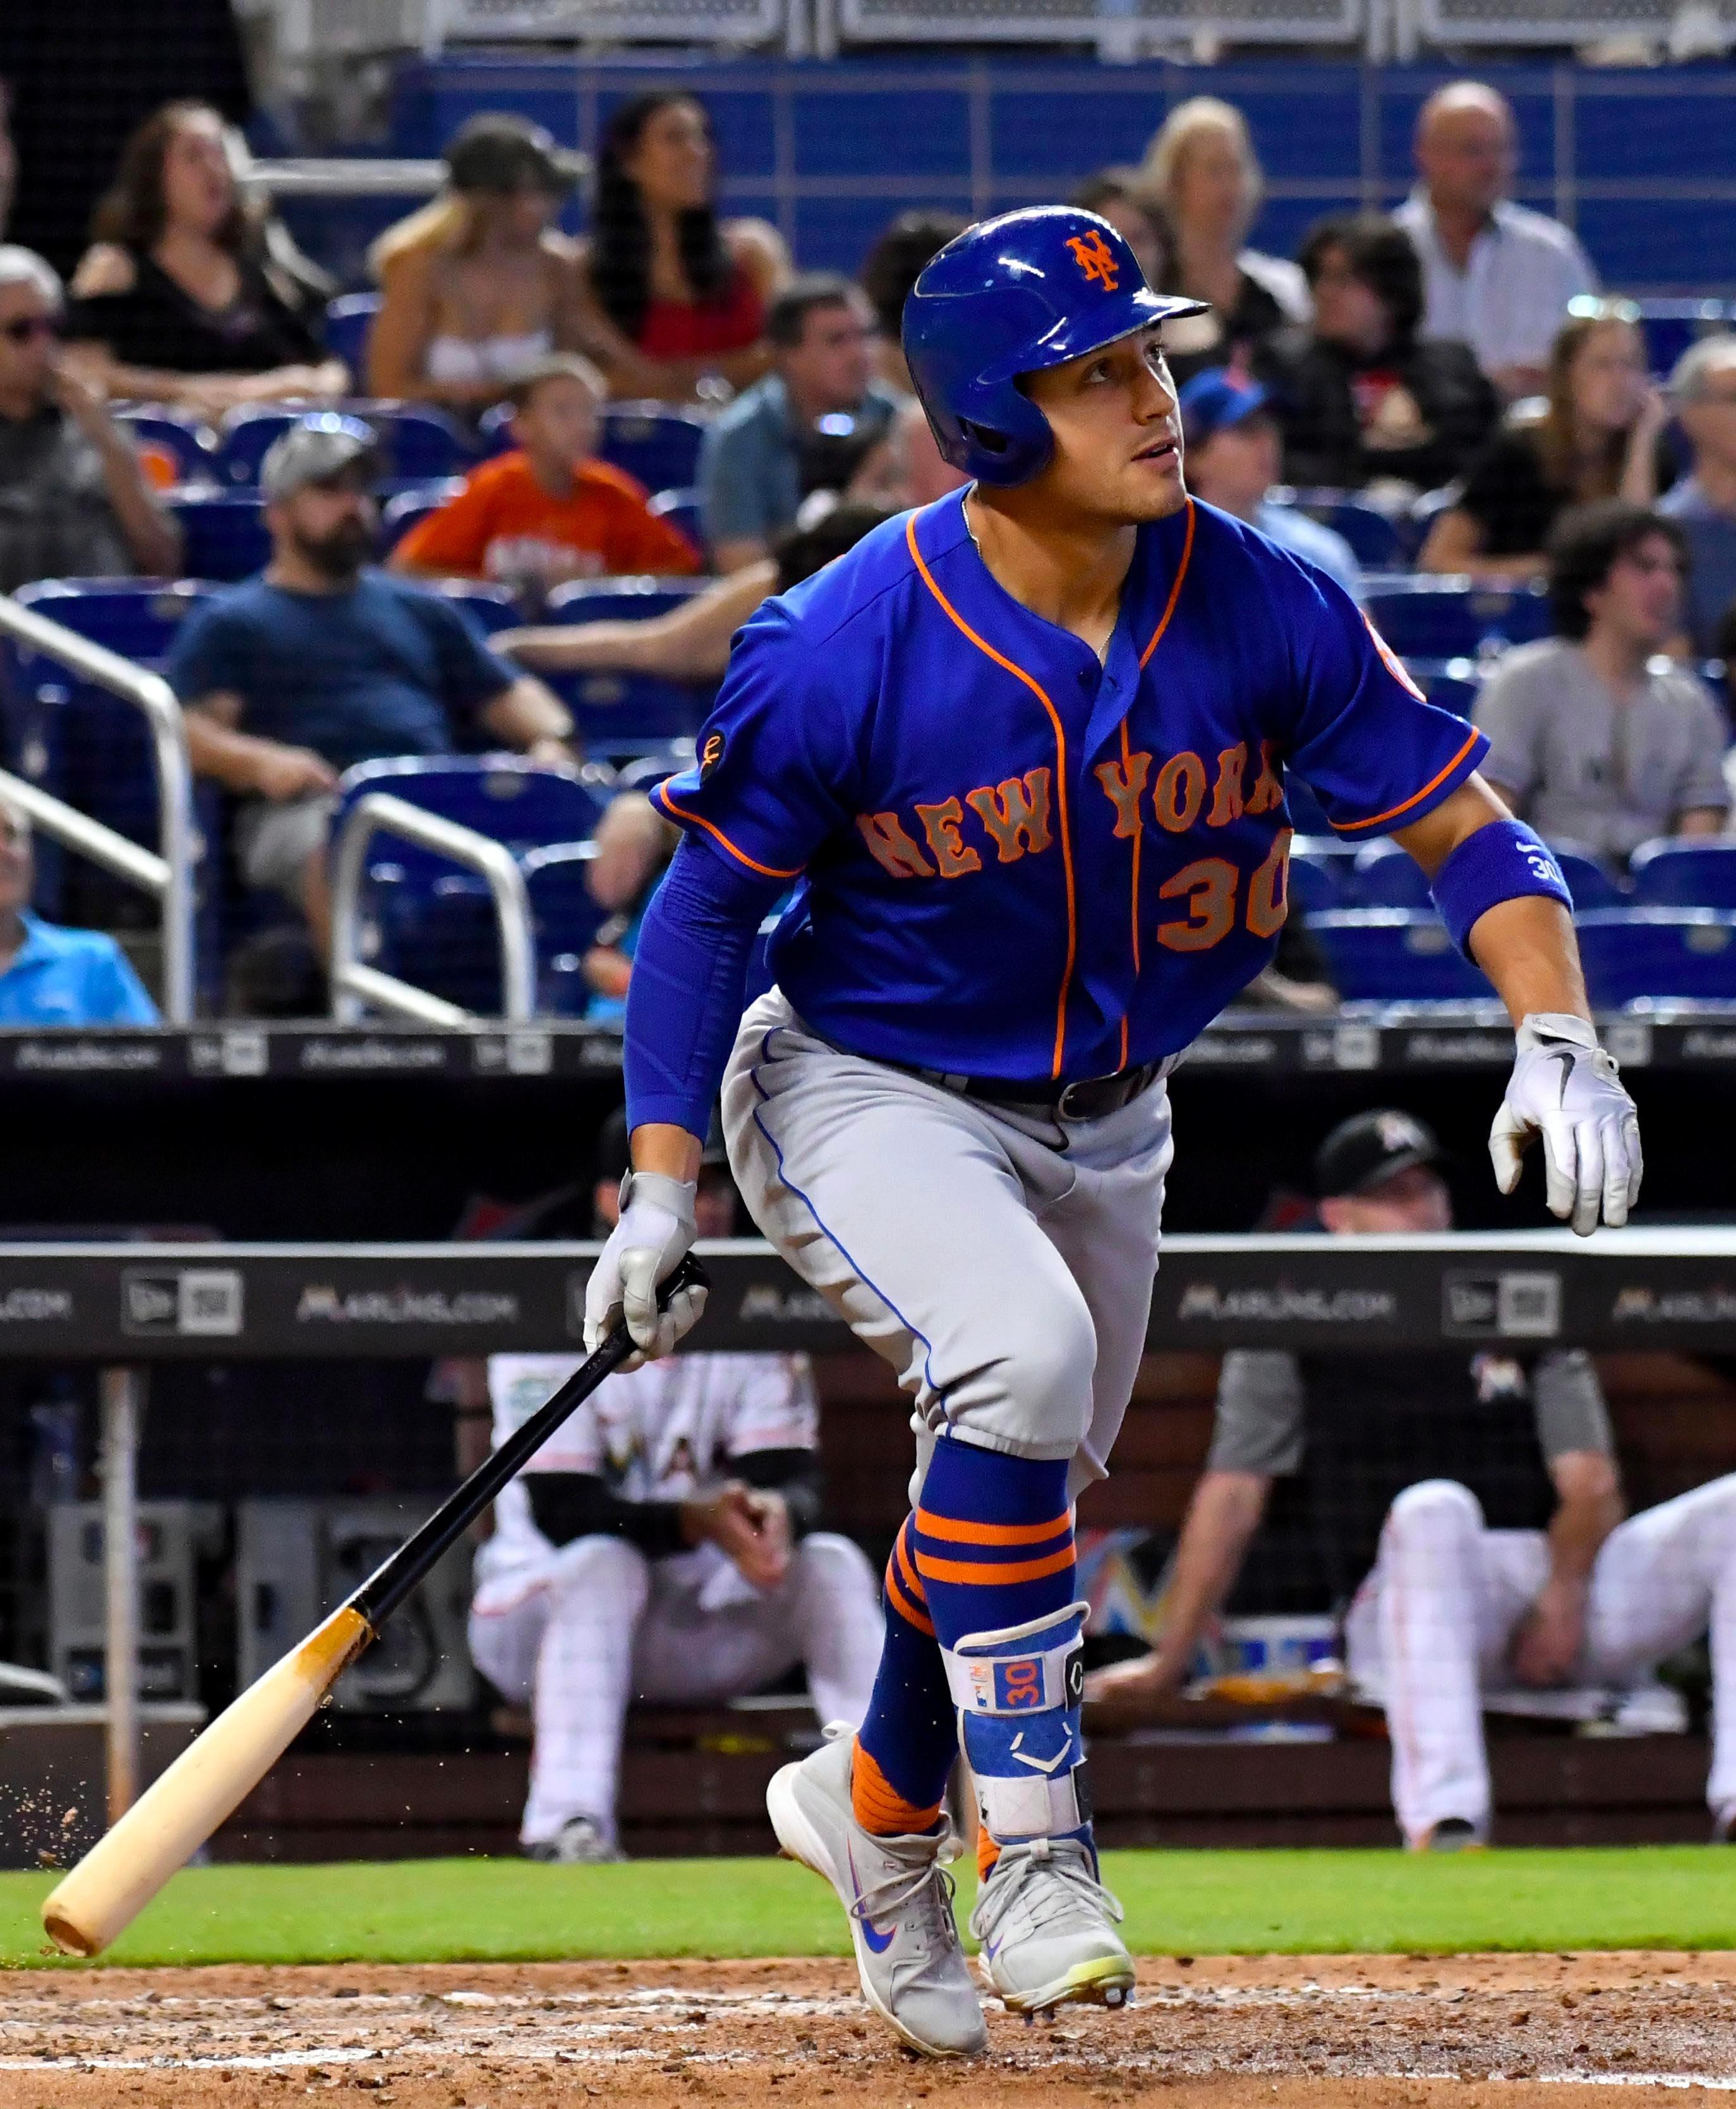
<path fill-rule="evenodd" d="M 970 1913 L 979 1968 L 1015 2014 L 1126 2006 L 1133 1957 L 1112 1926 L 1120 1915 L 1084 1839 L 1002 1845 Z"/>

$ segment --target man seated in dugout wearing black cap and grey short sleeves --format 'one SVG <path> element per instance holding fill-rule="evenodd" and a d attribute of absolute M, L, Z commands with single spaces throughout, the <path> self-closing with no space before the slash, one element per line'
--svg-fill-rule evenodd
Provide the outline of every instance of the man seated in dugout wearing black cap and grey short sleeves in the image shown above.
<path fill-rule="evenodd" d="M 1337 1238 L 1447 1232 L 1441 1145 L 1396 1109 L 1320 1145 Z M 1276 1592 L 1276 1594 L 1274 1594 Z M 1177 1691 L 1219 1607 L 1346 1613 L 1352 1685 L 1386 1708 L 1392 1801 L 1415 1852 L 1489 1841 L 1483 1704 L 1512 1687 L 1603 1694 L 1713 1630 L 1713 1835 L 1736 1820 L 1736 1474 L 1624 1521 L 1590 1358 L 1223 1356 L 1204 1474 L 1188 1506 L 1156 1649 L 1097 1670 L 1086 1698 L 1137 1717 Z"/>

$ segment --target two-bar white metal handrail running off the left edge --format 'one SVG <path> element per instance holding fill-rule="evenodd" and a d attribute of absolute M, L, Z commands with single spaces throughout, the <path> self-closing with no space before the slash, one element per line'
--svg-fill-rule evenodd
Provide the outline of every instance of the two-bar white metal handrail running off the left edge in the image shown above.
<path fill-rule="evenodd" d="M 78 812 L 63 799 L 38 791 L 21 776 L 4 776 L 0 785 L 19 810 L 25 812 L 44 835 L 63 841 L 80 856 L 89 856 L 103 869 L 129 879 L 133 886 L 156 894 L 162 903 L 162 1017 L 169 1025 L 192 1025 L 194 1002 L 194 936 L 192 936 L 192 763 L 188 761 L 188 732 L 175 692 L 158 673 L 146 673 L 118 652 L 91 643 L 78 631 L 70 631 L 34 607 L 21 607 L 11 595 L 0 593 L 0 633 L 59 660 L 82 681 L 95 681 L 122 702 L 131 702 L 143 713 L 150 725 L 152 766 L 156 770 L 156 829 L 158 850 L 141 850 L 139 844 L 118 835 L 101 820 Z"/>

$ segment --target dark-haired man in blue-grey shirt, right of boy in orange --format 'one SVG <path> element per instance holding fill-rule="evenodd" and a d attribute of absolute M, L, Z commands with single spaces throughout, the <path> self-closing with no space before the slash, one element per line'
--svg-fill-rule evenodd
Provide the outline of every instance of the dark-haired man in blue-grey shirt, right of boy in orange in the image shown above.
<path fill-rule="evenodd" d="M 899 411 L 873 378 L 873 310 L 848 278 L 795 278 L 772 302 L 766 335 L 774 371 L 713 420 L 700 453 L 719 572 L 757 563 L 812 491 L 846 489 Z"/>

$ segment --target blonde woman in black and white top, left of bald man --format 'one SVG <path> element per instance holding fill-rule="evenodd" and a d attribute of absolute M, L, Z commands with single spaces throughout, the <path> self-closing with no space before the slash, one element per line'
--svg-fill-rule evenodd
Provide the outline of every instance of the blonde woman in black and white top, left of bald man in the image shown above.
<path fill-rule="evenodd" d="M 1177 103 L 1152 135 L 1139 175 L 1175 238 L 1173 266 L 1154 287 L 1211 302 L 1211 314 L 1164 325 L 1177 382 L 1230 361 L 1247 367 L 1287 323 L 1308 321 L 1308 287 L 1295 264 L 1245 247 L 1264 179 L 1240 110 L 1215 95 Z"/>

